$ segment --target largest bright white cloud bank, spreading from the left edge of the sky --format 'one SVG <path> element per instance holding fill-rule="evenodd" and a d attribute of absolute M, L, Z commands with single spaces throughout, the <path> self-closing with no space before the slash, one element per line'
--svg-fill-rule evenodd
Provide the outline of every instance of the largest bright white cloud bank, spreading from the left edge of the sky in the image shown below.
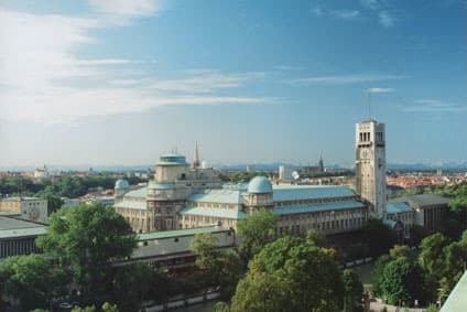
<path fill-rule="evenodd" d="M 131 2 L 131 1 L 128 1 Z M 111 24 L 115 26 L 115 24 Z M 164 105 L 258 104 L 274 99 L 222 96 L 262 79 L 262 73 L 177 72 L 175 78 L 149 77 L 143 63 L 127 58 L 79 58 L 76 51 L 97 43 L 93 19 L 31 14 L 0 8 L 1 118 L 74 122 L 90 116 L 140 112 Z M 173 76 L 174 73 L 171 73 Z M 143 78 L 141 78 L 143 77 Z M 237 94 L 237 93 L 236 93 Z"/>

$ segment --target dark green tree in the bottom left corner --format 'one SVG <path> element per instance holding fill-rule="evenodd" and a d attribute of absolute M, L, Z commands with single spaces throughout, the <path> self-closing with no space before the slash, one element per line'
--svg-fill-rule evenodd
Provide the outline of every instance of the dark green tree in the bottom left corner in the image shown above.
<path fill-rule="evenodd" d="M 66 276 L 40 255 L 9 257 L 0 265 L 2 293 L 19 299 L 24 309 L 48 308 L 63 295 Z"/>

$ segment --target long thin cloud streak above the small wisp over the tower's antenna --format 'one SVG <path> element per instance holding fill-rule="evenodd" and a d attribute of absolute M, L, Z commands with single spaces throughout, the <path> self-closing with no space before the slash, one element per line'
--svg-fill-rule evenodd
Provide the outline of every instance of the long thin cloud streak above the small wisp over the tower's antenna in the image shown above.
<path fill-rule="evenodd" d="M 336 76 L 314 76 L 289 80 L 293 85 L 351 85 L 371 82 L 397 80 L 404 79 L 401 75 L 381 75 L 381 74 L 355 74 L 355 75 L 336 75 Z"/>

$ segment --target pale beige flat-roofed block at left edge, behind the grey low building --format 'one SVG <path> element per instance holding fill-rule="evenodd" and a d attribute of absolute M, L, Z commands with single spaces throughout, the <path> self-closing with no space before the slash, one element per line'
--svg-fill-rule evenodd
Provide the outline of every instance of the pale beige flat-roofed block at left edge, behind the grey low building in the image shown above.
<path fill-rule="evenodd" d="M 24 196 L 0 198 L 0 213 L 15 214 L 22 219 L 44 223 L 48 217 L 47 200 Z"/>

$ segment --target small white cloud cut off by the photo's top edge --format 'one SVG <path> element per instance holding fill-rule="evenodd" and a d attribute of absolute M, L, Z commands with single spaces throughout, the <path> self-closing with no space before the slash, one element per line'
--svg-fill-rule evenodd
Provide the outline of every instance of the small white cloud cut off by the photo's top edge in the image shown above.
<path fill-rule="evenodd" d="M 88 0 L 89 7 L 104 14 L 151 17 L 163 10 L 162 0 Z"/>

